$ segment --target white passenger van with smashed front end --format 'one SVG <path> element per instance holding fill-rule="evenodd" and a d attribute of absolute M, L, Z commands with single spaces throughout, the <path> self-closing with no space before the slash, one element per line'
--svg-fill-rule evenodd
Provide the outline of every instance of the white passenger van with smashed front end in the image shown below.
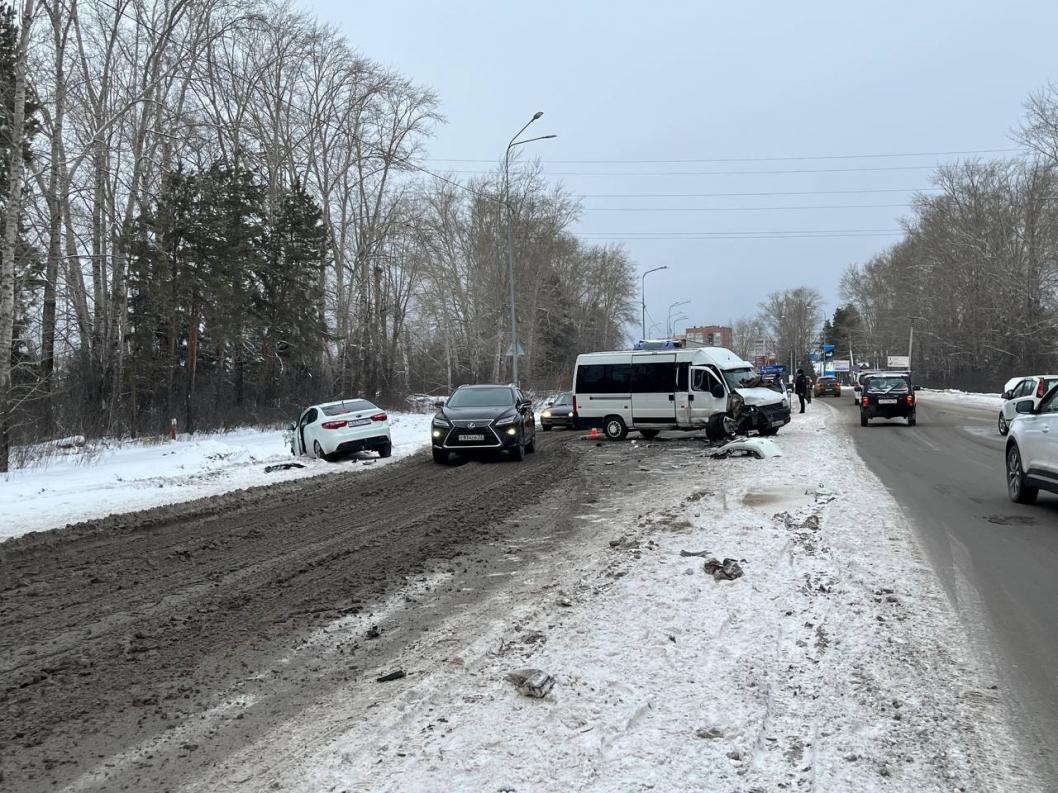
<path fill-rule="evenodd" d="M 630 429 L 653 438 L 729 414 L 743 429 L 774 435 L 789 423 L 789 400 L 756 382 L 752 364 L 723 347 L 590 352 L 573 370 L 576 426 L 601 427 L 612 440 Z"/>

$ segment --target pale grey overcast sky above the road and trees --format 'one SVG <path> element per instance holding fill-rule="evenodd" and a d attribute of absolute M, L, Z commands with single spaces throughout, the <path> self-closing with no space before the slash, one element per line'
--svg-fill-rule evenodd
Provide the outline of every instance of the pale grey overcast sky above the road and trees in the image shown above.
<path fill-rule="evenodd" d="M 527 148 L 584 196 L 576 232 L 668 265 L 646 280 L 662 324 L 675 300 L 727 322 L 798 285 L 833 311 L 845 268 L 898 239 L 912 192 L 959 156 L 932 152 L 1011 155 L 984 151 L 1014 148 L 1026 96 L 1058 79 L 1051 0 L 303 4 L 437 91 L 432 169 L 495 167 L 543 110 L 530 129 L 559 137 Z M 898 156 L 835 159 L 865 154 Z M 735 192 L 769 195 L 687 196 Z M 761 232 L 786 236 L 731 239 Z"/>

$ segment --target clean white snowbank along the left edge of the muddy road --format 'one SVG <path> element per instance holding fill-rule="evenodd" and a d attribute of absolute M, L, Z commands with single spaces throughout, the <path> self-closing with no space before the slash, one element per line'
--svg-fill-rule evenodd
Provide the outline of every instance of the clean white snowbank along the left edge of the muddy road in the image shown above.
<path fill-rule="evenodd" d="M 406 457 L 430 440 L 432 413 L 389 413 L 394 454 Z M 348 473 L 363 453 L 336 463 L 297 458 L 305 467 L 266 473 L 293 462 L 282 430 L 238 429 L 177 441 L 97 442 L 59 450 L 47 464 L 0 475 L 0 540 L 113 513 L 190 501 L 229 491 L 329 473 Z"/>

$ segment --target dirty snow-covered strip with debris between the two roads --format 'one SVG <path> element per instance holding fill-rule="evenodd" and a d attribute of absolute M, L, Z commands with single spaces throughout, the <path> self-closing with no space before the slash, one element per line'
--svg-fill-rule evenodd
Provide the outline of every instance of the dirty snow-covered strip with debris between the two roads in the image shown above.
<path fill-rule="evenodd" d="M 608 545 L 526 569 L 413 645 L 407 678 L 368 670 L 188 790 L 1039 790 L 899 506 L 828 416 L 795 417 L 782 458 L 644 455 L 653 484 L 581 518 Z M 554 688 L 521 696 L 519 667 Z"/>

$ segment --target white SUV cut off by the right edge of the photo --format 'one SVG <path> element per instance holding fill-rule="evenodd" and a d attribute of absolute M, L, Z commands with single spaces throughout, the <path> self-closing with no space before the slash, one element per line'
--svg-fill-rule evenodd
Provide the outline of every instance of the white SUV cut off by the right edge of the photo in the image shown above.
<path fill-rule="evenodd" d="M 1058 388 L 1038 405 L 1023 400 L 1006 440 L 1006 488 L 1011 501 L 1030 504 L 1041 490 L 1058 493 Z"/>

